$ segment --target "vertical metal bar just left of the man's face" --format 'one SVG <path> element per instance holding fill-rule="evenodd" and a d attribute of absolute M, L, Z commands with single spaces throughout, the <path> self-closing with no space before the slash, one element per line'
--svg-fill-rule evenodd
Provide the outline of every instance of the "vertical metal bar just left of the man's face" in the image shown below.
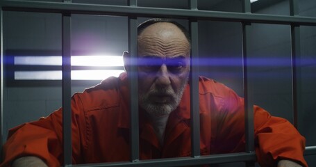
<path fill-rule="evenodd" d="M 137 0 L 129 0 L 129 6 L 137 6 Z M 131 161 L 140 159 L 139 121 L 138 121 L 138 67 L 137 67 L 137 17 L 128 17 L 128 50 L 131 71 L 128 74 L 131 93 Z"/>

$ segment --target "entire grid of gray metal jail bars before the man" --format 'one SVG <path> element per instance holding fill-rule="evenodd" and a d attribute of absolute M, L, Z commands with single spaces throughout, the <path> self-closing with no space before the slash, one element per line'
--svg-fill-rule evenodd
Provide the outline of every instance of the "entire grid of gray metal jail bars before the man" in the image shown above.
<path fill-rule="evenodd" d="M 43 1 L 18 1 L 3 0 L 1 4 L 1 143 L 3 143 L 3 51 L 2 51 L 2 10 L 8 11 L 26 11 L 38 13 L 62 13 L 63 19 L 63 137 L 64 137 L 64 166 L 195 166 L 201 164 L 220 164 L 235 161 L 246 161 L 247 166 L 254 166 L 256 154 L 254 153 L 253 144 L 253 102 L 251 101 L 252 88 L 248 80 L 248 34 L 251 23 L 268 23 L 268 24 L 288 24 L 292 26 L 292 87 L 293 87 L 293 108 L 294 124 L 297 125 L 297 86 L 299 72 L 297 72 L 297 61 L 299 58 L 299 26 L 308 25 L 316 26 L 315 17 L 300 17 L 297 15 L 297 1 L 290 0 L 290 16 L 281 15 L 263 15 L 251 14 L 250 2 L 243 1 L 243 13 L 216 12 L 197 9 L 197 0 L 190 0 L 190 9 L 170 9 L 170 8 L 148 8 L 139 7 L 137 0 L 129 0 L 128 6 L 108 6 L 94 5 L 83 3 L 64 2 L 43 2 Z M 71 107 L 70 107 L 70 90 L 71 90 L 71 16 L 72 14 L 89 14 L 89 15 L 119 15 L 128 16 L 128 43 L 131 54 L 131 76 L 130 87 L 131 95 L 138 94 L 138 77 L 136 64 L 137 54 L 137 18 L 138 17 L 174 17 L 189 19 L 190 33 L 192 35 L 192 58 L 191 58 L 191 77 L 190 77 L 190 94 L 191 94 L 191 118 L 192 118 L 192 157 L 181 157 L 171 159 L 153 159 L 140 160 L 139 157 L 139 138 L 138 138 L 138 98 L 131 97 L 131 161 L 113 162 L 103 164 L 81 164 L 72 165 L 72 147 L 71 147 Z M 226 22 L 240 22 L 242 24 L 242 49 L 244 65 L 244 97 L 245 97 L 245 132 L 247 138 L 246 152 L 234 154 L 214 154 L 200 156 L 199 154 L 199 94 L 198 94 L 198 20 L 216 20 Z M 136 98 L 135 98 L 136 97 Z M 315 146 L 307 147 L 306 154 L 315 154 Z"/>

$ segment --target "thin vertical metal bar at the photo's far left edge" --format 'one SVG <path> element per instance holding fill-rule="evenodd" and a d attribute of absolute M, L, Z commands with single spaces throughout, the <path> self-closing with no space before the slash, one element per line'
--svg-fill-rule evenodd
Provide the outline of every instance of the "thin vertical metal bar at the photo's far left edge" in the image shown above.
<path fill-rule="evenodd" d="M 4 135 L 3 135 L 3 18 L 2 18 L 2 6 L 0 6 L 0 161 L 2 161 L 2 145 L 4 143 Z"/>

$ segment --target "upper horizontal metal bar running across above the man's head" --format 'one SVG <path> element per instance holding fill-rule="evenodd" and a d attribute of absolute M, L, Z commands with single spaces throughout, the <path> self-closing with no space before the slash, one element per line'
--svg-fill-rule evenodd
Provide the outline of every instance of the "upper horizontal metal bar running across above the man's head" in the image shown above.
<path fill-rule="evenodd" d="M 0 1 L 0 3 L 3 10 L 33 11 L 42 13 L 65 13 L 67 11 L 74 14 L 122 15 L 135 17 L 175 17 L 185 19 L 208 19 L 226 22 L 316 26 L 316 17 L 44 1 L 3 0 Z"/>

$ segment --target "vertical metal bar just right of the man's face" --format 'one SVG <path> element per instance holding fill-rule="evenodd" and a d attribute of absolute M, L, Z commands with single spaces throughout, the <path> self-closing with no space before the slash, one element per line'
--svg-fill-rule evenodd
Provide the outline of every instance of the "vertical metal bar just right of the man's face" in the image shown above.
<path fill-rule="evenodd" d="M 197 0 L 190 0 L 191 10 L 197 10 Z M 200 120 L 199 120 L 199 48 L 198 23 L 190 20 L 191 33 L 191 73 L 190 73 L 190 106 L 191 106 L 191 157 L 200 156 Z"/>

